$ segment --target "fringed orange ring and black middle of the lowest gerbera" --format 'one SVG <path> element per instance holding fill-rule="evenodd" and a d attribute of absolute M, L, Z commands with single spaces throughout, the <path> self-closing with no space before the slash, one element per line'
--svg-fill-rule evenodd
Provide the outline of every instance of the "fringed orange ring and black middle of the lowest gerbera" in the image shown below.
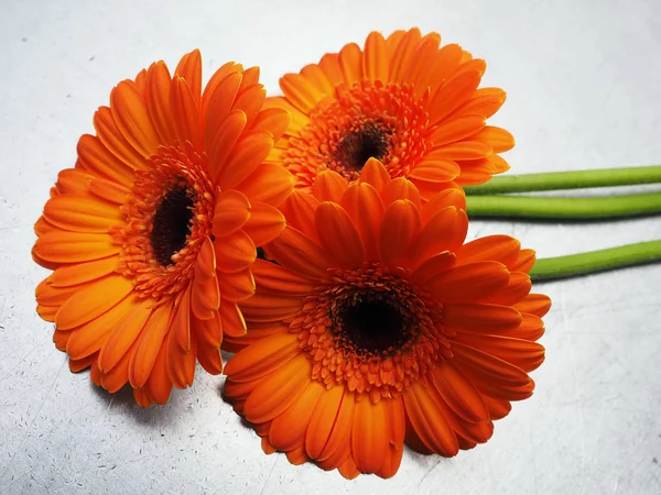
<path fill-rule="evenodd" d="M 290 323 L 313 362 L 312 378 L 345 384 L 372 402 L 393 397 L 451 356 L 441 306 L 404 268 L 337 270 Z"/>

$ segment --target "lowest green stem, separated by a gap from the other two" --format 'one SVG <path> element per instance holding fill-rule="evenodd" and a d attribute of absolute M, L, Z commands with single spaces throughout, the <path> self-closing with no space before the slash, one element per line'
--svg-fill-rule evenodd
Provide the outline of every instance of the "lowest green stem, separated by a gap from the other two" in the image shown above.
<path fill-rule="evenodd" d="M 639 242 L 607 250 L 538 260 L 530 271 L 533 280 L 572 278 L 626 266 L 661 261 L 661 241 Z"/>

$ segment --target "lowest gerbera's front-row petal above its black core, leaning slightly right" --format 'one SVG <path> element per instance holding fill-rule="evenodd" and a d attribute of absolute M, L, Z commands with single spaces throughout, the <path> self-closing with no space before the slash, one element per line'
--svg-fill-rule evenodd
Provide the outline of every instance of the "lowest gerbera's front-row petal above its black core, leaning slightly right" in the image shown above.
<path fill-rule="evenodd" d="M 383 263 L 407 258 L 420 230 L 420 211 L 409 200 L 398 200 L 386 208 L 379 231 L 379 253 Z"/>

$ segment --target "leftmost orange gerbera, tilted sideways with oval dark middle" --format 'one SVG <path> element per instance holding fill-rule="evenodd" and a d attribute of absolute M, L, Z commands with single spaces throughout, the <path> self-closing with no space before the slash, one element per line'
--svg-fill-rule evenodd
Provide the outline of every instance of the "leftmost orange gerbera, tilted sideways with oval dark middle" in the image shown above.
<path fill-rule="evenodd" d="M 37 311 L 57 349 L 144 407 L 192 385 L 196 359 L 220 373 L 223 332 L 246 331 L 256 245 L 284 228 L 274 205 L 293 179 L 263 160 L 290 118 L 261 110 L 258 77 L 229 63 L 202 92 L 195 51 L 174 76 L 159 62 L 121 81 L 36 222 L 34 260 L 54 270 Z"/>

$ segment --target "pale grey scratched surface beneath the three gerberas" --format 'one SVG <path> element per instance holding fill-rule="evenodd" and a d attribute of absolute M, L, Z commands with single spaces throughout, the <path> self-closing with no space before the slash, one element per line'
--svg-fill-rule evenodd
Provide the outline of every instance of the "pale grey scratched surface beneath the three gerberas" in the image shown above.
<path fill-rule="evenodd" d="M 494 122 L 517 138 L 514 170 L 658 163 L 658 0 L 0 4 L 0 493 L 661 493 L 661 265 L 539 285 L 554 300 L 548 359 L 492 440 L 454 459 L 407 451 L 393 479 L 348 482 L 264 455 L 220 377 L 142 410 L 71 374 L 34 312 L 47 272 L 30 257 L 48 188 L 111 87 L 194 47 L 206 77 L 261 65 L 275 92 L 279 75 L 370 30 L 419 25 L 486 58 L 485 84 L 508 91 Z M 549 256 L 661 239 L 661 221 L 481 222 L 470 237 L 496 232 Z"/>

